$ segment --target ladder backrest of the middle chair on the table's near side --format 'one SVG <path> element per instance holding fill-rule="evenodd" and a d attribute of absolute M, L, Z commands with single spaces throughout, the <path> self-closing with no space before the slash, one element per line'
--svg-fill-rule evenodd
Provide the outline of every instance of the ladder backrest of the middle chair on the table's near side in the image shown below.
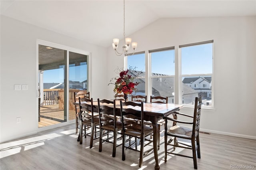
<path fill-rule="evenodd" d="M 102 125 L 113 125 L 111 122 L 114 121 L 114 128 L 116 128 L 116 100 L 98 99 L 98 113 L 100 127 Z"/>

